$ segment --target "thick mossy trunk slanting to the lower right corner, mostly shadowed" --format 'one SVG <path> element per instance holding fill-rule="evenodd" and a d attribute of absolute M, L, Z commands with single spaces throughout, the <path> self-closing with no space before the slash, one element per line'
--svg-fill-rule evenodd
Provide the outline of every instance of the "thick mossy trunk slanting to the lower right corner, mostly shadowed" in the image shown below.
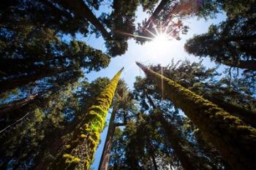
<path fill-rule="evenodd" d="M 200 129 L 233 169 L 256 169 L 256 129 L 173 80 L 137 63 L 160 89 Z"/>

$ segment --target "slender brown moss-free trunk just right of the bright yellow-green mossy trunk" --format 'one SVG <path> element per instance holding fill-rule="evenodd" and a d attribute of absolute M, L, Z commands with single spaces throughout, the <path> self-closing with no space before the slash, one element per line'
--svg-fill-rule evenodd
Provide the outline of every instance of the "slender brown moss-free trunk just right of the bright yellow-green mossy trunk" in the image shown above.
<path fill-rule="evenodd" d="M 112 141 L 113 141 L 113 135 L 114 135 L 115 129 L 116 129 L 116 125 L 114 123 L 115 118 L 116 118 L 116 112 L 117 112 L 117 108 L 116 108 L 116 105 L 114 105 L 113 111 L 112 111 L 111 117 L 110 117 L 109 126 L 108 126 L 108 134 L 107 134 L 107 137 L 105 140 L 105 144 L 104 144 L 102 156 L 100 158 L 98 170 L 107 170 L 108 169 L 108 162 L 110 160 L 110 150 L 111 150 L 111 145 L 112 145 Z"/>

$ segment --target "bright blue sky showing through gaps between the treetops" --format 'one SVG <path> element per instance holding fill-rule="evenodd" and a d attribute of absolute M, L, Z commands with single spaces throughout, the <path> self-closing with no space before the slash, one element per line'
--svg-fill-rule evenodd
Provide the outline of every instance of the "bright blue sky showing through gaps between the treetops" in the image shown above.
<path fill-rule="evenodd" d="M 99 15 L 100 12 L 109 11 L 108 6 L 103 6 L 99 12 L 96 12 Z M 146 12 L 142 11 L 142 8 L 139 7 L 137 12 L 138 18 L 136 19 L 136 23 L 140 22 L 144 18 L 147 18 Z M 124 66 L 124 72 L 122 74 L 122 78 L 127 82 L 130 89 L 132 89 L 133 82 L 135 81 L 136 76 L 143 76 L 143 72 L 140 71 L 138 66 L 135 65 L 135 61 L 140 61 L 145 64 L 157 64 L 161 63 L 162 66 L 166 66 L 172 58 L 174 61 L 189 59 L 190 61 L 200 61 L 199 58 L 195 58 L 193 55 L 188 55 L 184 51 L 184 43 L 187 39 L 191 38 L 195 34 L 202 34 L 208 30 L 208 26 L 211 24 L 217 24 L 225 20 L 225 15 L 219 14 L 216 19 L 213 20 L 197 20 L 197 18 L 190 18 L 186 21 L 186 25 L 189 26 L 189 32 L 187 35 L 182 35 L 181 40 L 172 39 L 165 45 L 156 45 L 154 42 L 146 42 L 145 45 L 138 45 L 135 43 L 135 40 L 129 39 L 128 42 L 128 50 L 124 55 L 117 56 L 116 58 L 112 58 L 110 65 L 106 69 L 102 69 L 99 72 L 91 72 L 86 75 L 89 81 L 97 79 L 97 77 L 109 77 L 112 78 L 119 69 Z M 102 37 L 96 38 L 94 35 L 90 37 L 79 37 L 78 39 L 87 42 L 91 47 L 97 48 L 99 50 L 105 51 L 104 40 Z M 203 64 L 208 67 L 215 66 L 214 63 L 211 63 L 207 58 L 203 60 Z M 107 123 L 109 121 L 110 114 L 107 117 Z M 108 131 L 108 126 L 101 134 L 101 144 L 97 149 L 94 157 L 94 163 L 92 164 L 93 169 L 97 169 L 99 165 L 99 159 L 102 154 L 103 145 L 105 142 L 105 137 Z"/>

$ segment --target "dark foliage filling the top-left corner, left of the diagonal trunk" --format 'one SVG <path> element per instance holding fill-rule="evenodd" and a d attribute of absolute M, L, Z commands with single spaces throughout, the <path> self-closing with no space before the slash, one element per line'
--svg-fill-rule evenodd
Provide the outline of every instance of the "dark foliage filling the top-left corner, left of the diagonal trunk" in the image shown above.
<path fill-rule="evenodd" d="M 89 23 L 85 18 L 73 15 L 58 1 L 19 1 L 1 3 L 2 24 L 18 24 L 24 20 L 37 28 L 50 28 L 56 33 L 75 36 L 88 34 Z"/>

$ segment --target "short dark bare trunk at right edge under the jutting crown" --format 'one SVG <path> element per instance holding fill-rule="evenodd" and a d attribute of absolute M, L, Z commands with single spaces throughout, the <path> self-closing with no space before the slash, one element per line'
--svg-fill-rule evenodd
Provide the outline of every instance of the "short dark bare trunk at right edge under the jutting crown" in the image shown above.
<path fill-rule="evenodd" d="M 222 61 L 223 64 L 231 67 L 238 67 L 239 69 L 249 69 L 256 71 L 256 60 L 249 61 Z"/>

